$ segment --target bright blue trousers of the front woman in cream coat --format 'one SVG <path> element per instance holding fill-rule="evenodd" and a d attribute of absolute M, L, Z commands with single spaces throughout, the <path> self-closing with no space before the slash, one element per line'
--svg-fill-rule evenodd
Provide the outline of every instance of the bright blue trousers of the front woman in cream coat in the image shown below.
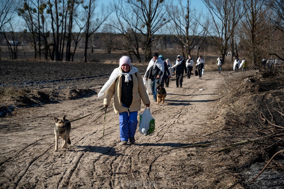
<path fill-rule="evenodd" d="M 120 140 L 128 141 L 134 137 L 138 124 L 137 115 L 137 111 L 119 113 Z"/>

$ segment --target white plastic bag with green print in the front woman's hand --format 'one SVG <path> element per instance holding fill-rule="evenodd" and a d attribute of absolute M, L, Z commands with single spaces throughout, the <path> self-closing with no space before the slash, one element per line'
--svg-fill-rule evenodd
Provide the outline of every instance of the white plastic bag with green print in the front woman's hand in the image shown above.
<path fill-rule="evenodd" d="M 140 124 L 139 132 L 142 135 L 150 135 L 155 130 L 155 119 L 151 116 L 150 108 L 145 108 L 142 114 L 139 114 Z"/>

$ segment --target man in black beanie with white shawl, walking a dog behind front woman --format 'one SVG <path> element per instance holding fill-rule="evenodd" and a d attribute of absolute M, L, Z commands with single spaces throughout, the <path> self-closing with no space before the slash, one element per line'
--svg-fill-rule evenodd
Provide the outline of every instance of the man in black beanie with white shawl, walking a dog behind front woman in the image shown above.
<path fill-rule="evenodd" d="M 143 77 L 144 84 L 147 88 L 147 94 L 150 94 L 151 89 L 154 101 L 157 101 L 157 82 L 161 83 L 165 69 L 164 61 L 158 56 L 158 53 L 153 53 L 153 58 L 150 60 Z"/>

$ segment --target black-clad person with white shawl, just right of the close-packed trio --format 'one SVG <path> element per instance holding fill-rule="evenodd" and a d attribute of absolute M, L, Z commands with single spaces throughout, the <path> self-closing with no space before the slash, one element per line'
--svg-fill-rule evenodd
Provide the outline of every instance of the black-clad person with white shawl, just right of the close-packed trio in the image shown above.
<path fill-rule="evenodd" d="M 185 62 L 180 55 L 177 56 L 177 60 L 174 64 L 174 66 L 172 66 L 172 69 L 174 69 L 173 73 L 176 72 L 176 85 L 177 85 L 177 87 L 178 86 L 182 87 L 183 70 L 184 70 L 185 74 L 187 74 L 187 69 L 186 69 L 186 66 L 185 66 Z"/>

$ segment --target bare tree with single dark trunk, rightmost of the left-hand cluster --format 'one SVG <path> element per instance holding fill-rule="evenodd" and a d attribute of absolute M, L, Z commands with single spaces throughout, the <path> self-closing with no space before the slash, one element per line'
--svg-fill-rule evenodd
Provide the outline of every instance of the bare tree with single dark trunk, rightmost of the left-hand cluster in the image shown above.
<path fill-rule="evenodd" d="M 102 9 L 95 14 L 95 10 L 97 9 L 97 1 L 89 0 L 87 4 L 83 4 L 83 8 L 85 10 L 85 50 L 84 50 L 84 62 L 87 62 L 87 49 L 88 49 L 88 41 L 89 37 L 95 33 L 101 25 L 105 22 L 105 20 L 110 15 L 110 11 Z M 92 23 L 92 24 L 91 24 Z"/>

